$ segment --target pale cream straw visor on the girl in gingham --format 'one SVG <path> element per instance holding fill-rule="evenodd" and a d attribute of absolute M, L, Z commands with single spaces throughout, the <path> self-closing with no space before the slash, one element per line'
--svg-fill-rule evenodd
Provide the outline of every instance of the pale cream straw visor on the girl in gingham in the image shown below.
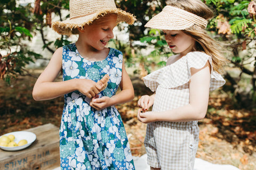
<path fill-rule="evenodd" d="M 207 20 L 188 11 L 167 5 L 162 12 L 149 20 L 145 27 L 159 30 L 185 30 L 195 24 L 205 29 Z"/>

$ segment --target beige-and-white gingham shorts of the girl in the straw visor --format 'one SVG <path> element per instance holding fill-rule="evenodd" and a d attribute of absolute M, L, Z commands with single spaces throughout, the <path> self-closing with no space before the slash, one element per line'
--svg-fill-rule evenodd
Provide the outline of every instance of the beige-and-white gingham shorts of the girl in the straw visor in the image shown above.
<path fill-rule="evenodd" d="M 193 170 L 198 134 L 196 121 L 149 123 L 144 141 L 148 164 L 163 170 Z"/>

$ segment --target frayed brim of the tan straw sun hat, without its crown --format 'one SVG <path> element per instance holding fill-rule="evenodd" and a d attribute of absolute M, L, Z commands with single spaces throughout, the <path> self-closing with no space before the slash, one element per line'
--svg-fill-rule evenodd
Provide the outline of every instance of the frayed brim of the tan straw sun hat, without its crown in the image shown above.
<path fill-rule="evenodd" d="M 65 21 L 55 21 L 52 23 L 52 29 L 61 35 L 70 35 L 72 30 L 79 27 L 84 27 L 84 25 L 92 23 L 94 20 L 99 19 L 101 16 L 105 16 L 106 14 L 111 13 L 117 14 L 117 23 L 124 21 L 128 24 L 133 24 L 136 20 L 135 16 L 119 8 L 109 8 L 108 10 L 101 10 L 96 13 L 71 20 L 67 19 Z"/>

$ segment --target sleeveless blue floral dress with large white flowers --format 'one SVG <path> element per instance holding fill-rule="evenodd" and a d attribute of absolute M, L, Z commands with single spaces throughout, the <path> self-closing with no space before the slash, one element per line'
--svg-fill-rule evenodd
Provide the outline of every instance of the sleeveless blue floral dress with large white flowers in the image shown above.
<path fill-rule="evenodd" d="M 99 97 L 116 94 L 122 76 L 123 55 L 110 48 L 105 60 L 83 58 L 75 44 L 63 46 L 63 81 L 110 79 Z M 121 115 L 115 106 L 97 111 L 79 91 L 65 95 L 60 125 L 61 169 L 135 169 Z"/>

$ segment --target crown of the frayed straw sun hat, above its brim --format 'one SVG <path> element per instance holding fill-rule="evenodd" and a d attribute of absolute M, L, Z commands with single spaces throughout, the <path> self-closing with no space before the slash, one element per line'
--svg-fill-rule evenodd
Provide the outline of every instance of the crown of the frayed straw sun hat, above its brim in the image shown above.
<path fill-rule="evenodd" d="M 114 0 L 70 0 L 70 19 L 75 19 L 96 13 L 99 10 L 116 8 Z"/>

